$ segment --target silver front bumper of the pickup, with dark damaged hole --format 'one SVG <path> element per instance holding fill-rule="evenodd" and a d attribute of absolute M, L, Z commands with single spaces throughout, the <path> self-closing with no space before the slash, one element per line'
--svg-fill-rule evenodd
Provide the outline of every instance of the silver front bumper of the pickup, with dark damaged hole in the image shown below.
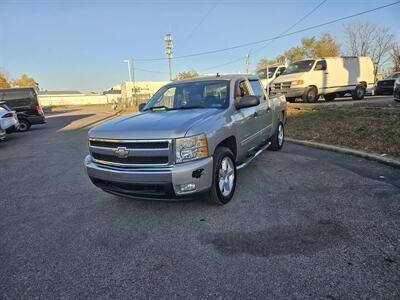
<path fill-rule="evenodd" d="M 112 194 L 140 199 L 195 198 L 211 188 L 213 177 L 212 157 L 168 167 L 119 168 L 95 163 L 88 155 L 85 167 L 97 187 Z M 202 170 L 201 176 L 197 176 L 199 170 Z M 181 185 L 190 183 L 196 185 L 194 190 L 180 191 Z"/>

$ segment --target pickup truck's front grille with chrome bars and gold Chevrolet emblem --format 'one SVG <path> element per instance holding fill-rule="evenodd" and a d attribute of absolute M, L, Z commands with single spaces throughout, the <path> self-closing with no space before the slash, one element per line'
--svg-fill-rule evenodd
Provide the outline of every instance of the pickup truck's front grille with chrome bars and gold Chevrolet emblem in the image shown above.
<path fill-rule="evenodd" d="M 116 167 L 165 166 L 173 161 L 171 140 L 92 138 L 89 149 L 96 163 Z"/>

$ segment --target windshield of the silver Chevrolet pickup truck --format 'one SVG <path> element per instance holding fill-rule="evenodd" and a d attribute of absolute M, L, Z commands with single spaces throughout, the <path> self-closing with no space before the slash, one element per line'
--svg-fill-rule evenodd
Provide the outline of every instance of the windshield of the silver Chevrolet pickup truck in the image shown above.
<path fill-rule="evenodd" d="M 229 81 L 172 83 L 158 90 L 143 110 L 226 108 L 229 105 Z"/>

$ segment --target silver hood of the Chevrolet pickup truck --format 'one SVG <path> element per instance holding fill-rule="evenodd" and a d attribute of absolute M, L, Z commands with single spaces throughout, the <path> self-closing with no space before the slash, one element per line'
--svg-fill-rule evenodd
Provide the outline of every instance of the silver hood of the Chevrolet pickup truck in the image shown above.
<path fill-rule="evenodd" d="M 193 126 L 223 113 L 220 109 L 200 108 L 146 111 L 115 118 L 89 131 L 91 138 L 171 139 L 184 137 Z"/>

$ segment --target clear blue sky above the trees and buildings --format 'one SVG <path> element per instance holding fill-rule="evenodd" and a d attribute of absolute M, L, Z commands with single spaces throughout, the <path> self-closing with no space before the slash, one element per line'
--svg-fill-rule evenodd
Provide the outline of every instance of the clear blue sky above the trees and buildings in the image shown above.
<path fill-rule="evenodd" d="M 321 0 L 0 0 L 0 68 L 9 77 L 33 76 L 42 89 L 102 91 L 127 80 L 127 58 L 164 57 L 164 35 L 172 33 L 176 56 L 276 36 Z M 394 0 L 328 0 L 293 30 L 357 13 Z M 391 27 L 399 40 L 400 5 L 345 23 L 299 33 L 270 43 L 251 57 L 273 58 L 301 37 L 330 32 L 344 43 L 343 25 L 370 21 Z M 397 20 L 396 20 L 397 18 Z M 173 61 L 173 72 L 244 71 L 244 57 L 262 45 Z M 345 45 L 343 45 L 345 48 Z M 136 80 L 168 79 L 166 61 L 137 61 Z M 211 69 L 210 69 L 211 68 Z"/>

